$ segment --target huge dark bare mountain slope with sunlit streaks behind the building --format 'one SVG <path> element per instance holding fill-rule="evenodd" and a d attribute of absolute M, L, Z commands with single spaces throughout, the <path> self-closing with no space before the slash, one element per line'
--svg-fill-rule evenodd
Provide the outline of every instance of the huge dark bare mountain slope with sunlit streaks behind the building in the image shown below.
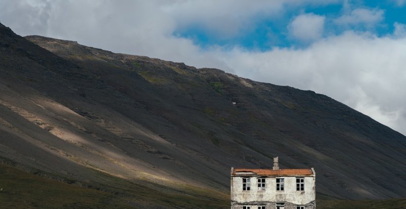
<path fill-rule="evenodd" d="M 231 167 L 275 156 L 323 196 L 406 196 L 406 137 L 312 91 L 0 24 L 0 95 L 4 164 L 135 207 L 220 208 Z"/>

